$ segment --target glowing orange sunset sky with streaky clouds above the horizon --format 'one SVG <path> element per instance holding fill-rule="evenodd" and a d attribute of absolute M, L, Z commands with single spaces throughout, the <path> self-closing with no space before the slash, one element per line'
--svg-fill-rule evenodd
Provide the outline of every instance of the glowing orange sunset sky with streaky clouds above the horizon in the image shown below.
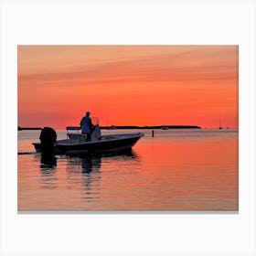
<path fill-rule="evenodd" d="M 18 125 L 238 127 L 238 46 L 18 46 Z"/>

